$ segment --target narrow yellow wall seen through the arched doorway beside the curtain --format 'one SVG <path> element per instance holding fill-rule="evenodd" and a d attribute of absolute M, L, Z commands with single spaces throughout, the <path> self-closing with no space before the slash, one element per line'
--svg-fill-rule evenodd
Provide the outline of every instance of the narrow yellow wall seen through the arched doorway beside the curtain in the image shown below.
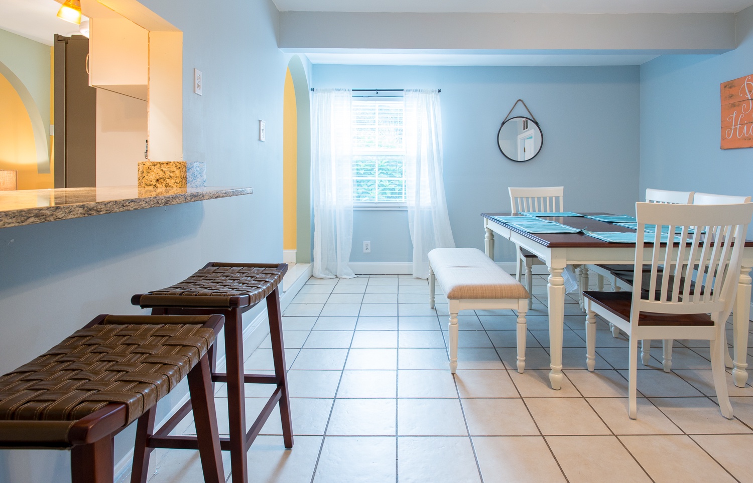
<path fill-rule="evenodd" d="M 298 119 L 295 105 L 293 77 L 288 69 L 285 74 L 285 107 L 283 108 L 283 147 L 282 147 L 282 216 L 283 249 L 295 250 L 296 245 L 296 205 L 297 205 L 297 164 L 298 164 Z"/>

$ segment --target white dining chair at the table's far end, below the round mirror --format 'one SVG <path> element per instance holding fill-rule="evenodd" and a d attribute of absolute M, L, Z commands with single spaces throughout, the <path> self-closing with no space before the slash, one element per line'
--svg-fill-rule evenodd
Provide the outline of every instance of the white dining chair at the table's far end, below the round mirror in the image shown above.
<path fill-rule="evenodd" d="M 549 213 L 564 211 L 564 208 L 562 208 L 562 198 L 565 187 L 509 187 L 508 191 L 510 193 L 510 205 L 512 206 L 513 214 L 537 211 L 547 211 Z M 531 252 L 520 248 L 520 245 L 515 245 L 515 248 L 517 251 L 515 278 L 517 281 L 520 281 L 523 267 L 525 266 L 526 288 L 528 289 L 528 293 L 532 293 L 533 266 L 545 265 L 545 263 L 538 260 L 538 257 Z M 532 306 L 533 296 L 528 301 L 528 308 L 532 308 Z"/>

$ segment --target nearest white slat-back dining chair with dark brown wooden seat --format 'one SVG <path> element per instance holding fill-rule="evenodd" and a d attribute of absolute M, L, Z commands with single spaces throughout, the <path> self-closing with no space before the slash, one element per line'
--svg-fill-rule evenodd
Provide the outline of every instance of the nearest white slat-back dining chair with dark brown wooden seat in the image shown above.
<path fill-rule="evenodd" d="M 647 224 L 680 227 L 680 240 L 660 243 L 662 230 L 652 235 L 651 269 L 644 272 L 644 240 L 636 240 L 633 290 L 584 292 L 586 366 L 596 365 L 596 315 L 623 330 L 629 339 L 628 415 L 637 417 L 637 361 L 640 339 L 702 339 L 711 348 L 714 387 L 721 414 L 733 416 L 727 393 L 724 324 L 735 298 L 745 232 L 753 203 L 680 205 L 636 203 L 638 233 Z M 664 246 L 662 246 L 664 245 Z M 711 277 L 705 274 L 716 274 Z M 702 276 L 700 276 L 702 275 Z M 700 278 L 699 278 L 700 277 Z"/>

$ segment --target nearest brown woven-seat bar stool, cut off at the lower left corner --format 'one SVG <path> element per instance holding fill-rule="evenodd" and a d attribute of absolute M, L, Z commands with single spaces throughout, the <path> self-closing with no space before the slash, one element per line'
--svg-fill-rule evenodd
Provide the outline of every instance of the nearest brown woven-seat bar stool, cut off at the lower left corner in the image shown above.
<path fill-rule="evenodd" d="M 157 401 L 187 377 L 204 480 L 224 482 L 207 357 L 222 318 L 96 317 L 0 376 L 0 448 L 70 448 L 73 483 L 111 483 L 115 434 L 154 421 Z M 136 443 L 146 457 L 132 481 L 143 482 L 148 453 Z"/>

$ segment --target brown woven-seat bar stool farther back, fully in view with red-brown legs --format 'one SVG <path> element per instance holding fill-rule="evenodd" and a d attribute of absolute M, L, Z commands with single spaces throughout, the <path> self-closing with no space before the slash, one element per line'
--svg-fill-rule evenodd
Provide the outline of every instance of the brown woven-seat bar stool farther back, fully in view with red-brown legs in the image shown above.
<path fill-rule="evenodd" d="M 282 342 L 282 317 L 278 286 L 288 271 L 286 263 L 208 263 L 203 269 L 178 284 L 162 290 L 139 293 L 131 298 L 133 305 L 151 308 L 152 314 L 222 314 L 225 316 L 225 357 L 227 373 L 216 372 L 217 355 L 212 353 L 212 381 L 227 382 L 230 438 L 220 438 L 223 451 L 230 451 L 233 481 L 248 481 L 246 451 L 261 427 L 279 404 L 282 438 L 285 448 L 293 447 L 293 430 L 285 374 L 285 345 Z M 267 300 L 270 339 L 275 373 L 244 374 L 242 313 Z M 264 409 L 245 430 L 245 384 L 276 384 Z M 154 448 L 196 448 L 192 436 L 169 436 L 187 414 L 190 406 L 181 408 L 150 438 Z"/>

